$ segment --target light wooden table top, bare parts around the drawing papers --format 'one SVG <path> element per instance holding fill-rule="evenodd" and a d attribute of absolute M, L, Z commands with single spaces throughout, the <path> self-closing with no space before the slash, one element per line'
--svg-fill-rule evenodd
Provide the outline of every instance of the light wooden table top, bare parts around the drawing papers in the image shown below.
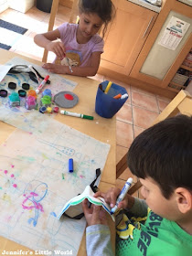
<path fill-rule="evenodd" d="M 8 60 L 13 59 L 14 57 L 19 57 L 26 59 L 32 63 L 35 63 L 39 66 L 42 65 L 41 62 L 29 59 L 24 56 L 19 56 L 18 54 L 10 51 L 0 49 L 0 64 L 5 64 Z M 18 63 L 19 64 L 19 63 Z M 100 189 L 102 191 L 108 190 L 110 187 L 114 187 L 116 181 L 116 120 L 115 117 L 112 119 L 101 118 L 95 110 L 95 96 L 99 81 L 91 80 L 88 78 L 81 78 L 75 76 L 64 76 L 69 80 L 78 82 L 78 85 L 74 89 L 74 93 L 79 96 L 79 103 L 73 108 L 73 112 L 81 112 L 88 115 L 94 116 L 94 120 L 84 120 L 80 118 L 73 118 L 70 116 L 63 116 L 58 114 L 56 119 L 61 122 L 69 125 L 70 127 L 79 130 L 81 133 L 86 133 L 89 136 L 107 144 L 111 144 L 110 153 L 108 155 L 106 165 L 102 171 Z M 10 133 L 12 133 L 16 128 L 8 125 L 6 123 L 0 122 L 0 144 L 2 144 Z M 109 221 L 112 223 L 112 219 Z M 114 245 L 114 225 L 112 226 L 112 244 Z M 5 238 L 0 237 L 0 248 L 1 251 L 16 251 L 23 250 L 27 251 L 28 249 L 24 246 L 17 244 L 11 240 L 6 240 Z M 34 254 L 35 255 L 35 254 Z M 86 255 L 85 248 L 85 236 L 80 244 L 80 251 L 78 255 Z"/>

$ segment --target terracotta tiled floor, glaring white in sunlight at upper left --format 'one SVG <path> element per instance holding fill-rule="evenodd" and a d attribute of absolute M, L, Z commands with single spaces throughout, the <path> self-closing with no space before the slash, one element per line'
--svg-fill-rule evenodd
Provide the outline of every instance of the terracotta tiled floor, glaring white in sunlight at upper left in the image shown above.
<path fill-rule="evenodd" d="M 55 27 L 63 22 L 69 21 L 70 9 L 59 5 L 58 15 L 56 17 Z M 7 9 L 0 14 L 0 18 L 5 21 L 12 22 L 18 26 L 28 28 L 27 33 L 10 50 L 16 53 L 28 56 L 33 59 L 41 60 L 43 49 L 39 48 L 33 42 L 36 33 L 42 33 L 48 30 L 49 14 L 39 11 L 36 7 L 31 8 L 26 14 L 18 11 Z M 53 55 L 48 55 L 48 60 L 52 61 Z M 111 80 L 110 78 L 96 75 L 96 80 Z M 117 113 L 117 162 L 126 154 L 130 144 L 139 133 L 150 126 L 157 115 L 165 109 L 170 102 L 169 99 L 155 95 L 151 92 L 143 91 L 129 84 L 112 80 L 122 85 L 129 94 L 128 100 L 124 103 L 122 109 Z M 124 180 L 132 176 L 130 171 L 126 169 L 120 178 L 117 179 L 117 187 L 122 188 Z M 136 178 L 133 177 L 133 181 Z"/>

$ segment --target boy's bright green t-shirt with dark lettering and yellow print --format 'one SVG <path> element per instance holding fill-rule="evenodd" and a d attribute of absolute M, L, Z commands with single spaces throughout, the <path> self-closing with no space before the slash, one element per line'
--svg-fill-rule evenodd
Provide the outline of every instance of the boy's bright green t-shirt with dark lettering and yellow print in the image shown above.
<path fill-rule="evenodd" d="M 116 255 L 192 255 L 192 236 L 176 222 L 163 219 L 150 209 L 146 218 L 128 218 L 123 214 L 116 230 Z"/>

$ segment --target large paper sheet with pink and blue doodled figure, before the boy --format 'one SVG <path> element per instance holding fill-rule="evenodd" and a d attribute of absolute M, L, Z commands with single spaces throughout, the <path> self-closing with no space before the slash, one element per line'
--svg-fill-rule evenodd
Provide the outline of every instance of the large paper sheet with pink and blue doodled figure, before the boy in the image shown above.
<path fill-rule="evenodd" d="M 96 168 L 103 169 L 109 145 L 52 119 L 48 126 L 51 135 L 45 126 L 41 137 L 16 130 L 0 146 L 0 235 L 32 250 L 77 255 L 85 220 L 58 215 L 91 184 Z"/>

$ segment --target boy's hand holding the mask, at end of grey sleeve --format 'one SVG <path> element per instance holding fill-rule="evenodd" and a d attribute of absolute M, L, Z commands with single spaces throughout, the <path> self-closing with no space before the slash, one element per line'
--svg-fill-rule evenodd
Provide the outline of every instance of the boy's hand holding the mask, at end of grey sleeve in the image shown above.
<path fill-rule="evenodd" d="M 91 204 L 91 208 L 88 207 L 88 199 L 82 202 L 82 208 L 87 220 L 88 226 L 103 224 L 107 225 L 106 212 L 102 207 Z"/>

